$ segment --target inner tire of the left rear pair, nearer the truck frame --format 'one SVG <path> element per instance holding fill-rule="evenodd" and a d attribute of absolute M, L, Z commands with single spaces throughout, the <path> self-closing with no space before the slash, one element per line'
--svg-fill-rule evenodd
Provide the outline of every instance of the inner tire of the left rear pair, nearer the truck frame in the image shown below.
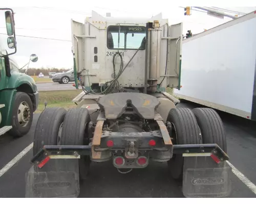
<path fill-rule="evenodd" d="M 63 122 L 61 145 L 89 145 L 88 126 L 90 121 L 91 118 L 87 109 L 69 109 Z M 79 176 L 81 180 L 87 179 L 90 163 L 90 156 L 80 157 Z"/>

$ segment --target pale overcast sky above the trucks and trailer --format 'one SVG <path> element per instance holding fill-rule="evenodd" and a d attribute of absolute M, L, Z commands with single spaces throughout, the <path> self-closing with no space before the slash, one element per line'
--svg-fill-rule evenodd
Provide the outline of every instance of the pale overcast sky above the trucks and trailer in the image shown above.
<path fill-rule="evenodd" d="M 137 16 L 150 18 L 152 15 L 162 13 L 163 18 L 168 18 L 169 24 L 182 21 L 184 35 L 187 30 L 191 30 L 193 34 L 196 34 L 203 32 L 204 29 L 210 29 L 232 20 L 228 17 L 224 17 L 224 19 L 215 18 L 208 16 L 205 12 L 195 10 L 192 11 L 192 15 L 184 16 L 183 8 L 165 5 L 164 3 L 160 4 L 159 2 L 161 1 L 158 1 L 159 4 L 147 4 L 146 9 L 142 9 L 143 6 L 139 4 L 134 7 L 134 4 L 125 4 L 122 2 L 120 5 L 120 1 L 117 2 L 119 3 L 106 3 L 105 5 L 102 3 L 98 5 L 96 3 L 95 5 L 86 4 L 83 7 L 79 4 L 74 4 L 73 0 L 63 3 L 61 7 L 50 4 L 44 7 L 11 7 L 15 12 L 16 35 L 66 40 L 57 41 L 17 36 L 17 53 L 14 57 L 18 65 L 20 67 L 23 66 L 28 62 L 31 54 L 36 54 L 38 61 L 31 63 L 30 67 L 71 68 L 73 66 L 72 44 L 70 42 L 71 18 L 79 22 L 84 22 L 84 19 L 91 15 L 92 10 L 103 16 L 105 16 L 105 13 L 110 12 L 113 17 Z M 249 13 L 256 10 L 255 7 L 221 8 L 242 13 Z M 6 33 L 4 27 L 5 24 L 0 23 L 0 33 Z M 0 39 L 6 39 L 6 36 L 0 34 Z"/>

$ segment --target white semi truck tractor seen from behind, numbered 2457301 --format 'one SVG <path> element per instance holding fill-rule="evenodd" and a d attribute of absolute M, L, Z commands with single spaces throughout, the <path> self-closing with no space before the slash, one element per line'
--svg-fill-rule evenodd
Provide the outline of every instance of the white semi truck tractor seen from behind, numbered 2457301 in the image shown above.
<path fill-rule="evenodd" d="M 179 100 L 166 92 L 180 89 L 182 22 L 93 11 L 71 27 L 82 92 L 73 99 L 76 108 L 41 113 L 26 197 L 77 197 L 92 162 L 110 161 L 117 173 L 164 162 L 169 176 L 183 181 L 185 197 L 228 196 L 222 120 L 210 108 L 177 108 Z"/>

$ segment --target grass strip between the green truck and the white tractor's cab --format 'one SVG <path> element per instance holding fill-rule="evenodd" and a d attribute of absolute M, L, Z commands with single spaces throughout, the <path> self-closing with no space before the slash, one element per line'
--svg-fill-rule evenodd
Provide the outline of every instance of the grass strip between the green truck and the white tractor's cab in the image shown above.
<path fill-rule="evenodd" d="M 41 113 L 45 109 L 45 102 L 47 102 L 47 108 L 74 108 L 76 105 L 72 102 L 72 100 L 79 93 L 81 93 L 81 90 L 40 91 L 39 104 L 35 113 Z"/>

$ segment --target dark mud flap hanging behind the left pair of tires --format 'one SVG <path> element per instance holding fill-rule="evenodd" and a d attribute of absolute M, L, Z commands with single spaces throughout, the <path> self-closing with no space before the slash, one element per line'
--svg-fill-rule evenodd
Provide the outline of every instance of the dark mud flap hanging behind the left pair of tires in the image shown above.
<path fill-rule="evenodd" d="M 32 166 L 26 173 L 26 197 L 77 197 L 80 193 L 78 160 L 59 159 L 48 163 L 41 169 Z"/>

